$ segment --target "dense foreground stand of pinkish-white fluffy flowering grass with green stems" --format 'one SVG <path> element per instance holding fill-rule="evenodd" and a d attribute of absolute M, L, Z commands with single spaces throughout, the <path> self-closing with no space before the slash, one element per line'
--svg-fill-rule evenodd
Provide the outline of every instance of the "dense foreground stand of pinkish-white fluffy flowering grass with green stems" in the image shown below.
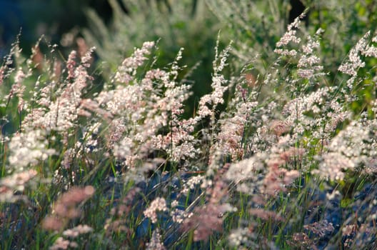
<path fill-rule="evenodd" d="M 0 249 L 377 249 L 377 36 L 333 74 L 305 15 L 263 70 L 266 54 L 229 76 L 241 46 L 219 34 L 190 116 L 184 49 L 161 66 L 140 41 L 104 74 L 83 39 L 66 59 L 16 41 L 0 68 Z"/>

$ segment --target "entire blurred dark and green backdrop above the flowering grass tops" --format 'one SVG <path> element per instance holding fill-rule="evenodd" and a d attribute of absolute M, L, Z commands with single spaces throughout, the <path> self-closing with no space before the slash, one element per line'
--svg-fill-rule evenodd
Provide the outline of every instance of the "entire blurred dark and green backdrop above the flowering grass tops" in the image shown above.
<path fill-rule="evenodd" d="M 20 33 L 23 53 L 44 35 L 66 59 L 71 49 L 96 46 L 101 79 L 109 79 L 121 61 L 144 41 L 158 41 L 156 66 L 164 68 L 181 47 L 179 81 L 192 84 L 186 113 L 198 96 L 211 90 L 212 61 L 233 40 L 226 76 L 248 74 L 253 81 L 276 60 L 275 44 L 286 26 L 308 8 L 301 35 L 324 30 L 321 62 L 329 82 L 337 66 L 366 31 L 377 27 L 375 0 L 0 0 L 0 56 Z"/>

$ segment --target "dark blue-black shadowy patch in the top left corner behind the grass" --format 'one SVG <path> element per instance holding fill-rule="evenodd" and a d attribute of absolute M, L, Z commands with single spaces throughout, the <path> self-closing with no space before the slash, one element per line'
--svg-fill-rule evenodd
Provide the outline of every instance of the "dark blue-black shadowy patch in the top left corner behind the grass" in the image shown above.
<path fill-rule="evenodd" d="M 106 23 L 111 19 L 107 0 L 0 0 L 1 56 L 8 53 L 20 30 L 24 49 L 30 50 L 41 35 L 59 44 L 63 34 L 87 26 L 89 8 L 97 11 Z"/>

